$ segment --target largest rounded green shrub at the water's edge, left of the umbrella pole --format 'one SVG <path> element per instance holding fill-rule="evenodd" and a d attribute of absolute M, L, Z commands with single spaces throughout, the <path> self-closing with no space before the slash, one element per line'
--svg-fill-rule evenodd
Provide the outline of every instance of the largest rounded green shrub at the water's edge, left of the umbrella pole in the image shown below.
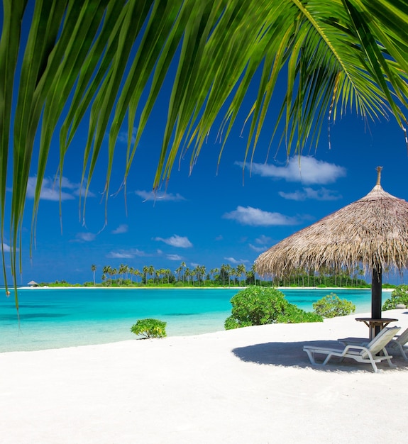
<path fill-rule="evenodd" d="M 261 326 L 268 323 L 319 322 L 321 316 L 307 313 L 285 299 L 285 294 L 271 287 L 248 287 L 231 299 L 231 316 L 224 327 Z"/>

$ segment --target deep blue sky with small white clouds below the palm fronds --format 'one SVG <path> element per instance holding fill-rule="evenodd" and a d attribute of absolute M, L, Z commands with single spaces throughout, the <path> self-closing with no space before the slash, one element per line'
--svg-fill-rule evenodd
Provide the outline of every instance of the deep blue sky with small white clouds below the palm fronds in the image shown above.
<path fill-rule="evenodd" d="M 222 264 L 236 267 L 241 263 L 250 269 L 256 257 L 270 246 L 370 192 L 379 165 L 384 168 L 382 187 L 408 199 L 407 146 L 404 133 L 394 121 L 383 119 L 368 122 L 368 126 L 360 117 L 347 113 L 331 126 L 330 144 L 327 123 L 316 150 L 304 149 L 299 169 L 297 156 L 288 160 L 285 147 L 278 150 L 278 139 L 272 143 L 267 160 L 274 126 L 270 117 L 250 171 L 250 165 L 243 167 L 248 128 L 241 136 L 248 109 L 238 117 L 219 165 L 221 145 L 216 142 L 214 128 L 191 174 L 187 155 L 180 167 L 176 162 L 167 188 L 154 196 L 151 190 L 165 124 L 163 116 L 167 113 L 166 92 L 155 107 L 136 152 L 126 202 L 123 189 L 119 190 L 126 131 L 118 139 L 106 226 L 102 196 L 104 155 L 89 187 L 85 220 L 80 216 L 79 182 L 86 123 L 67 154 L 60 220 L 59 190 L 55 184 L 59 146 L 55 137 L 43 182 L 32 259 L 29 242 L 35 168 L 28 184 L 19 284 L 31 279 L 91 281 L 92 264 L 97 266 L 98 282 L 105 265 L 118 267 L 122 263 L 139 270 L 153 265 L 174 271 L 181 262 L 190 268 L 205 265 L 207 271 Z M 248 97 L 248 106 L 254 97 Z M 6 249 L 8 245 L 6 233 Z M 399 278 L 385 275 L 384 282 L 387 281 L 401 283 Z"/>

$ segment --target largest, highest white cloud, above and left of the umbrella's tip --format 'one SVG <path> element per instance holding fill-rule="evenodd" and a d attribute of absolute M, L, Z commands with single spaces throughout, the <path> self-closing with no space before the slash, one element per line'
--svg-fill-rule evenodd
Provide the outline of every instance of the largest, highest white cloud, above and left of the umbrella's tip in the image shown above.
<path fill-rule="evenodd" d="M 242 162 L 236 162 L 243 166 Z M 311 156 L 291 157 L 285 166 L 275 166 L 264 163 L 246 165 L 252 174 L 262 177 L 285 179 L 287 182 L 302 182 L 303 184 L 331 184 L 339 177 L 346 176 L 346 168 L 333 163 L 316 160 Z"/>

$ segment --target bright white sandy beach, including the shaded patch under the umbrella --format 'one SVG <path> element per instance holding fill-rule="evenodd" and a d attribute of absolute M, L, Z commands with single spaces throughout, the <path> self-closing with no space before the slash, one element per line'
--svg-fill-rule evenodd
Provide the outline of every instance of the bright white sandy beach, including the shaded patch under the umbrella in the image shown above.
<path fill-rule="evenodd" d="M 3 353 L 1 443 L 402 443 L 408 362 L 312 368 L 302 346 L 368 337 L 353 316 Z M 408 310 L 386 311 L 408 328 Z"/>

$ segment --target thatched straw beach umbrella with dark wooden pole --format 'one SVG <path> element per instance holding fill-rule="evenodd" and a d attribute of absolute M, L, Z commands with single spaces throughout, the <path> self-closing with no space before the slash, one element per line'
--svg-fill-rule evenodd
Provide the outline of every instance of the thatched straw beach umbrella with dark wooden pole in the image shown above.
<path fill-rule="evenodd" d="M 377 184 L 362 199 L 285 238 L 255 260 L 261 275 L 282 277 L 299 268 L 370 270 L 371 316 L 381 318 L 382 270 L 408 266 L 408 202 L 385 192 L 382 167 Z"/>

